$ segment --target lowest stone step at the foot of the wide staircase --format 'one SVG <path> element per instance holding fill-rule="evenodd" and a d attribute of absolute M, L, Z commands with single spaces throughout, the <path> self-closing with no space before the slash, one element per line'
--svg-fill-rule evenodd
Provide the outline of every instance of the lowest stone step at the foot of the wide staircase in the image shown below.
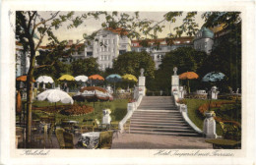
<path fill-rule="evenodd" d="M 130 131 L 130 134 L 165 135 L 165 136 L 180 136 L 180 137 L 201 137 L 199 134 L 196 134 L 196 133 L 164 133 L 164 132 Z"/>

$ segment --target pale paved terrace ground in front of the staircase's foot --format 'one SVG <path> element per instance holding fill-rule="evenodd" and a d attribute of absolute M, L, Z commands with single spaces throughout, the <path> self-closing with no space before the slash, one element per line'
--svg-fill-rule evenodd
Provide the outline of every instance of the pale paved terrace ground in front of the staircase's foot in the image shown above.
<path fill-rule="evenodd" d="M 206 138 L 123 134 L 114 138 L 112 149 L 213 149 Z"/>

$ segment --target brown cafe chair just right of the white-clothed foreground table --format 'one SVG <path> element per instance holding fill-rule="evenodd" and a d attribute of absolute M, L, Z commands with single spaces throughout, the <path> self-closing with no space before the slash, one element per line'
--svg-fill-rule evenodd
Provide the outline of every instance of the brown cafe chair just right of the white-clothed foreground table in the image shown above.
<path fill-rule="evenodd" d="M 113 132 L 107 131 L 107 132 L 101 132 L 99 134 L 99 141 L 97 148 L 100 149 L 110 149 L 112 145 L 112 138 L 113 138 Z"/>

